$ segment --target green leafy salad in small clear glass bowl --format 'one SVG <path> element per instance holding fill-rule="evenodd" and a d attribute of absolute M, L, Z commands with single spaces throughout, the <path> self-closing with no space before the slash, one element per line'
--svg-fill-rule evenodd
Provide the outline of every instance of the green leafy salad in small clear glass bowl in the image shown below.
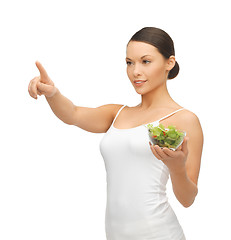
<path fill-rule="evenodd" d="M 165 128 L 163 124 L 154 127 L 151 123 L 145 126 L 149 131 L 149 138 L 154 145 L 177 149 L 186 135 L 184 131 L 177 130 L 175 126 L 169 125 Z"/>

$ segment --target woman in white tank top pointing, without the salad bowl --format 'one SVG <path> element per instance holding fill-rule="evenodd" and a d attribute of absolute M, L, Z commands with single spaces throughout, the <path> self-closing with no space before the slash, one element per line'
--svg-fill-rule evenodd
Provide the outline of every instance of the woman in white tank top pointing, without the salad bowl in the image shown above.
<path fill-rule="evenodd" d="M 30 81 L 31 97 L 45 95 L 64 123 L 106 133 L 100 151 L 107 171 L 105 228 L 108 240 L 183 240 L 185 234 L 166 196 L 171 177 L 178 201 L 189 207 L 198 193 L 203 148 L 198 117 L 169 95 L 166 82 L 179 72 L 170 36 L 155 27 L 136 32 L 127 44 L 127 74 L 141 95 L 134 107 L 106 104 L 75 106 L 55 87 L 39 63 L 40 76 Z M 94 119 L 94 121 L 92 121 Z M 149 142 L 147 124 L 174 125 L 187 133 L 172 151 Z"/>

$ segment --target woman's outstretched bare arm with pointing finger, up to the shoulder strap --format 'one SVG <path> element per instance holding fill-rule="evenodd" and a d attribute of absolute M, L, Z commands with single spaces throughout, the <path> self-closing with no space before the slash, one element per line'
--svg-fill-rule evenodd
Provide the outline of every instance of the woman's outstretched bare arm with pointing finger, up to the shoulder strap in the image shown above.
<path fill-rule="evenodd" d="M 36 62 L 40 76 L 33 78 L 28 86 L 31 97 L 44 95 L 53 113 L 64 123 L 75 125 L 93 133 L 105 133 L 122 105 L 106 104 L 96 108 L 75 106 L 63 96 L 48 76 L 40 62 Z"/>

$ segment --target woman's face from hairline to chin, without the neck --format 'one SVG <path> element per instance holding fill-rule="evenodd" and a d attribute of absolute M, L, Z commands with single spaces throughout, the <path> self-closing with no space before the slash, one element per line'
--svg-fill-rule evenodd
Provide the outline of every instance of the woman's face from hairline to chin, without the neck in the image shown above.
<path fill-rule="evenodd" d="M 127 74 L 137 93 L 144 94 L 164 84 L 168 71 L 173 67 L 168 64 L 158 49 L 151 44 L 130 41 L 126 52 Z M 135 81 L 146 81 L 136 84 Z"/>

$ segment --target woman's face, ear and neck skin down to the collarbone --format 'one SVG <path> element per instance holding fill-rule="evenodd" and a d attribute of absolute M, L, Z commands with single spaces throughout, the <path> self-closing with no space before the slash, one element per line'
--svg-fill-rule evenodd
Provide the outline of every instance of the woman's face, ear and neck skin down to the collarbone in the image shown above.
<path fill-rule="evenodd" d="M 170 56 L 166 60 L 154 46 L 131 41 L 127 46 L 126 63 L 128 78 L 136 92 L 141 95 L 141 110 L 179 107 L 166 87 L 168 73 L 175 65 L 175 56 Z M 144 86 L 136 87 L 135 80 L 147 82 Z"/>

